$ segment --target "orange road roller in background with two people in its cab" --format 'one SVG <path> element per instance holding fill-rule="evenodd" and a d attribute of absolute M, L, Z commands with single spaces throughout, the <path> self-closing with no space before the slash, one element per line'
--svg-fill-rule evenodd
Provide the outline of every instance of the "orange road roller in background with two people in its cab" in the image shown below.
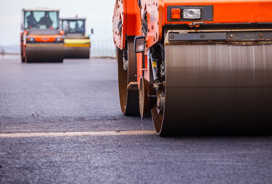
<path fill-rule="evenodd" d="M 63 61 L 64 32 L 59 31 L 59 9 L 22 9 L 21 30 L 22 62 Z"/>

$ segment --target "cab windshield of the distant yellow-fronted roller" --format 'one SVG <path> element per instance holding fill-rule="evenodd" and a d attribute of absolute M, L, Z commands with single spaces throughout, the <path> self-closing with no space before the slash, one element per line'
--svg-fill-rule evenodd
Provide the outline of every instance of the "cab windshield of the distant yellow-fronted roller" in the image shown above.
<path fill-rule="evenodd" d="M 85 34 L 84 20 L 62 20 L 62 29 L 65 33 Z"/>

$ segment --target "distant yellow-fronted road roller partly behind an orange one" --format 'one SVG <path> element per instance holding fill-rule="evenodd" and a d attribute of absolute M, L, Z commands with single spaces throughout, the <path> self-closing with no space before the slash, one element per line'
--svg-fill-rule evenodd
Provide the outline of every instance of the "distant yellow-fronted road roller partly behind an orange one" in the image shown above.
<path fill-rule="evenodd" d="M 77 17 L 61 19 L 65 32 L 65 58 L 90 58 L 90 38 L 85 34 L 85 20 Z"/>

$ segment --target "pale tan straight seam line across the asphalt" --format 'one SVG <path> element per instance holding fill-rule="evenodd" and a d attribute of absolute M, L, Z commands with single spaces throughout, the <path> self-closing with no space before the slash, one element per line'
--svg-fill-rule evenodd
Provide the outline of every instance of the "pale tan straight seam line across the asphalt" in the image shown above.
<path fill-rule="evenodd" d="M 41 133 L 0 133 L 1 137 L 43 137 L 43 136 L 93 136 L 93 135 L 148 135 L 154 130 L 136 131 L 92 131 L 92 132 L 41 132 Z"/>

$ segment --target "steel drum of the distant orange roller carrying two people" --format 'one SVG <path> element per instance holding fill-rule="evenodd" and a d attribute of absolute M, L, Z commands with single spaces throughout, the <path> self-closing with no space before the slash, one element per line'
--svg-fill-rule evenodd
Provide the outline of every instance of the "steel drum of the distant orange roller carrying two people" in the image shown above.
<path fill-rule="evenodd" d="M 27 63 L 53 63 L 63 62 L 64 46 L 27 46 L 26 57 Z"/>

